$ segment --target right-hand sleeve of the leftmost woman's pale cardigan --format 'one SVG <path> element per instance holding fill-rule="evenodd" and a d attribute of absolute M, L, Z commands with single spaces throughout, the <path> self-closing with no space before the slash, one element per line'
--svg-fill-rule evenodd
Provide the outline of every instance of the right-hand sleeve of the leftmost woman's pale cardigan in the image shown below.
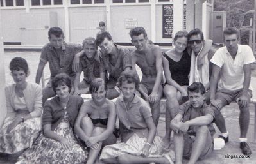
<path fill-rule="evenodd" d="M 40 117 L 42 114 L 42 87 L 35 87 L 35 104 L 33 107 L 33 111 L 30 112 L 32 118 Z"/>

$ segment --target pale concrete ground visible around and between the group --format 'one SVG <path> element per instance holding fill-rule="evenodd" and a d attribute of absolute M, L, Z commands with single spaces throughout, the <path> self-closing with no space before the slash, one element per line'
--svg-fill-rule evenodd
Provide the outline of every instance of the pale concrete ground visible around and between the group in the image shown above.
<path fill-rule="evenodd" d="M 27 78 L 30 82 L 35 82 L 35 74 L 37 71 L 37 65 L 38 61 L 40 59 L 40 52 L 4 52 L 4 66 L 5 66 L 5 79 L 6 79 L 6 85 L 12 84 L 13 80 L 10 76 L 10 71 L 8 69 L 8 64 L 10 63 L 10 60 L 15 57 L 20 56 L 24 57 L 29 64 L 30 67 L 30 76 Z M 256 91 L 256 66 L 253 66 L 252 71 L 252 86 L 255 87 Z M 44 71 L 45 77 L 49 77 L 49 68 L 46 66 L 46 69 Z M 256 98 L 256 95 L 255 97 Z M 238 117 L 239 117 L 239 108 L 237 104 L 231 103 L 230 105 L 226 106 L 221 110 L 223 113 L 223 116 L 226 120 L 226 126 L 230 133 L 230 142 L 225 145 L 225 147 L 221 150 L 214 151 L 212 156 L 210 158 L 207 158 L 203 161 L 198 161 L 198 164 L 240 164 L 240 163 L 248 163 L 248 164 L 255 164 L 256 163 L 256 142 L 253 140 L 253 133 L 254 133 L 254 106 L 250 105 L 250 126 L 248 130 L 248 143 L 252 149 L 252 155 L 250 157 L 245 157 L 241 153 L 239 149 L 239 123 L 238 123 Z M 164 137 L 165 133 L 165 119 L 164 115 L 161 115 L 160 121 L 158 124 L 158 134 L 161 137 Z M 219 134 L 218 129 L 216 128 L 216 136 Z M 172 145 L 173 147 L 173 145 Z M 0 164 L 6 163 L 6 164 L 12 164 L 15 163 L 16 158 L 13 156 L 1 156 L 0 154 Z M 186 164 L 187 160 L 183 160 L 183 163 Z"/>

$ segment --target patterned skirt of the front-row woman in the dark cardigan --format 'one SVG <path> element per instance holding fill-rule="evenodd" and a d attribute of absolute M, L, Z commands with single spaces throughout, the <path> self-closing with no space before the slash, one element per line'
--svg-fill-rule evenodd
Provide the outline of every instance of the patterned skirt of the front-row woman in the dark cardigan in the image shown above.
<path fill-rule="evenodd" d="M 54 132 L 65 137 L 72 145 L 72 150 L 62 148 L 60 142 L 40 135 L 31 149 L 26 150 L 18 159 L 18 164 L 25 163 L 85 163 L 88 153 L 78 144 L 74 137 L 73 130 L 69 124 L 70 118 L 65 112 L 65 116 Z"/>

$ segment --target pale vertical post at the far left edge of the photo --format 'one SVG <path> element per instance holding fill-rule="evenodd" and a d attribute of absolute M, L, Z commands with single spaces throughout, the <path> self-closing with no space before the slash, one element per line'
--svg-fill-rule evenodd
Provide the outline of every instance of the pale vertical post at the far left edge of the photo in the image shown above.
<path fill-rule="evenodd" d="M 1 21 L 1 9 L 0 9 L 0 22 Z M 5 100 L 5 71 L 4 71 L 4 46 L 3 46 L 3 31 L 2 24 L 0 24 L 0 128 L 4 123 L 4 118 L 6 116 L 6 100 Z"/>

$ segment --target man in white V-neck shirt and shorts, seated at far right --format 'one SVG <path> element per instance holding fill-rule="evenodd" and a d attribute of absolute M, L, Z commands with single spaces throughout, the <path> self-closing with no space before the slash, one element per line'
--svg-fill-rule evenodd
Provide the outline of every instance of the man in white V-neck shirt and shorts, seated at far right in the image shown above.
<path fill-rule="evenodd" d="M 234 27 L 228 27 L 223 31 L 225 47 L 219 48 L 212 59 L 212 77 L 210 80 L 210 101 L 214 107 L 216 126 L 221 131 L 220 137 L 228 142 L 228 131 L 226 130 L 221 108 L 231 101 L 237 101 L 240 109 L 240 149 L 245 155 L 252 154 L 246 143 L 250 112 L 249 100 L 252 97 L 251 63 L 255 62 L 252 49 L 248 45 L 239 45 L 239 31 Z M 218 87 L 217 87 L 218 84 Z M 217 92 L 216 92 L 216 88 Z"/>

